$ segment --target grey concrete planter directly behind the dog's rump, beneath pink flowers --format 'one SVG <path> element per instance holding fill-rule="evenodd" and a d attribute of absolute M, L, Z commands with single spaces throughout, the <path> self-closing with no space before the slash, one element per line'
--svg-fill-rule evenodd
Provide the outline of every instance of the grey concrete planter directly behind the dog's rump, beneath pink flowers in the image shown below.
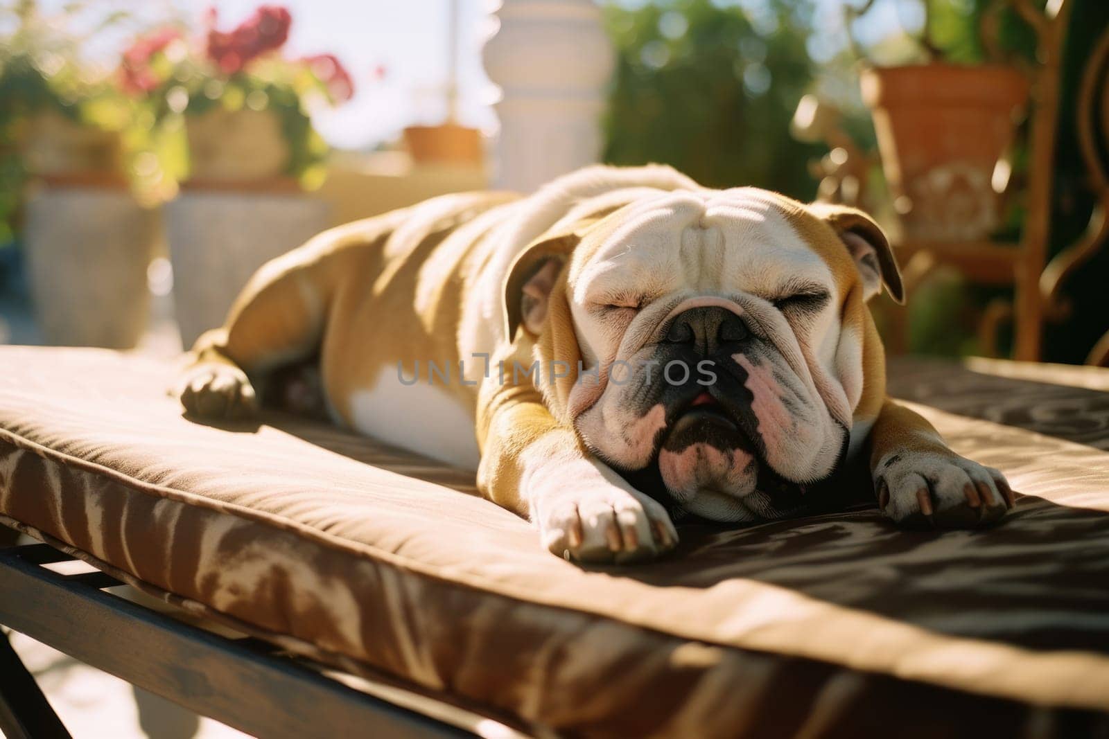
<path fill-rule="evenodd" d="M 330 225 L 327 205 L 298 193 L 186 189 L 164 212 L 185 348 L 223 325 L 258 267 Z"/>

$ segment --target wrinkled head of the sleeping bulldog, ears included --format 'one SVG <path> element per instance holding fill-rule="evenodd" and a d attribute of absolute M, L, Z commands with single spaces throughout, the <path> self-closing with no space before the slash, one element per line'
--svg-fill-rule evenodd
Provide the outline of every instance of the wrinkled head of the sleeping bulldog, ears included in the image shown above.
<path fill-rule="evenodd" d="M 696 515 L 756 521 L 798 507 L 846 453 L 864 376 L 882 372 L 864 304 L 883 284 L 902 299 L 858 211 L 756 188 L 638 193 L 528 247 L 506 320 L 600 459 Z"/>

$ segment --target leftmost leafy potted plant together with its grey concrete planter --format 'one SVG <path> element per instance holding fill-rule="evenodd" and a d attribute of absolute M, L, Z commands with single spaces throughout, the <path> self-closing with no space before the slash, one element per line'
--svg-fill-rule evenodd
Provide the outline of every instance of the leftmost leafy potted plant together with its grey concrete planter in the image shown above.
<path fill-rule="evenodd" d="M 47 17 L 23 2 L 16 17 L 0 44 L 2 235 L 13 235 L 21 214 L 47 342 L 133 347 L 146 324 L 156 216 L 135 203 L 123 176 L 130 103 L 81 63 L 64 13 Z"/>

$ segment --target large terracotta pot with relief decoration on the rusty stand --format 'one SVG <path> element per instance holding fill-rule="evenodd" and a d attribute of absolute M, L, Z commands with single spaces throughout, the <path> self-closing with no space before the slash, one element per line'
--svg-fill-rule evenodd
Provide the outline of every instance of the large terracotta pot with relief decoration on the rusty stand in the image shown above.
<path fill-rule="evenodd" d="M 905 236 L 987 236 L 999 209 L 990 179 L 1028 103 L 1028 80 L 1008 66 L 935 63 L 867 69 L 861 82 Z"/>

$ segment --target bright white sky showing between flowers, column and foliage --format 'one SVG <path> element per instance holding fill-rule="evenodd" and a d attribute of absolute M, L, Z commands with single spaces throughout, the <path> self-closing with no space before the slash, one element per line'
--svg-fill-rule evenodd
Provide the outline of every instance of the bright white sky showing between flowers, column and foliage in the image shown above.
<path fill-rule="evenodd" d="M 447 59 L 449 0 L 267 0 L 286 6 L 293 25 L 285 53 L 299 57 L 323 52 L 337 55 L 355 82 L 355 97 L 347 104 L 321 114 L 316 126 L 334 146 L 357 148 L 395 136 L 411 123 L 435 124 L 446 116 L 444 91 L 448 79 Z M 618 0 L 638 7 L 649 0 Z M 750 13 L 765 7 L 765 0 L 715 0 L 739 4 Z M 853 0 L 858 4 L 862 0 Z M 40 0 L 45 12 L 55 12 L 67 0 Z M 817 0 L 826 35 L 814 38 L 810 50 L 816 55 L 842 48 L 844 0 Z M 134 18 L 114 33 L 101 33 L 88 44 L 89 53 L 114 60 L 134 28 L 149 28 L 159 19 L 183 14 L 195 21 L 210 6 L 220 13 L 218 27 L 230 29 L 246 18 L 260 0 L 91 0 L 77 27 L 92 28 L 98 18 L 114 9 L 125 9 Z M 498 0 L 458 0 L 459 4 L 459 120 L 491 131 L 496 115 L 491 103 L 497 90 L 481 69 L 480 49 L 495 27 L 489 12 Z M 919 0 L 879 0 L 858 25 L 864 42 L 876 41 L 898 28 L 917 23 Z M 385 69 L 384 76 L 377 70 Z"/>

